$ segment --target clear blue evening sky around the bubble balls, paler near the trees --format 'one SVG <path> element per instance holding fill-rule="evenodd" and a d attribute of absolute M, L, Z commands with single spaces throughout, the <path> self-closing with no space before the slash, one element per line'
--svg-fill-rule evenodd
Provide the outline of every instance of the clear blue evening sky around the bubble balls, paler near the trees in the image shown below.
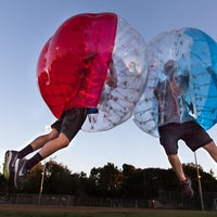
<path fill-rule="evenodd" d="M 67 18 L 79 13 L 114 12 L 149 42 L 156 35 L 182 27 L 199 28 L 217 40 L 216 0 L 0 0 L 0 165 L 7 150 L 21 150 L 47 132 L 55 118 L 37 86 L 36 65 L 46 41 Z M 208 130 L 217 142 L 217 127 Z M 182 163 L 195 163 L 194 153 L 179 143 Z M 27 157 L 30 157 L 27 156 Z M 217 176 L 217 165 L 200 149 L 197 163 Z M 170 168 L 154 138 L 140 130 L 132 118 L 101 132 L 79 131 L 69 146 L 51 157 L 72 173 L 89 174 L 112 163 L 136 168 Z"/>

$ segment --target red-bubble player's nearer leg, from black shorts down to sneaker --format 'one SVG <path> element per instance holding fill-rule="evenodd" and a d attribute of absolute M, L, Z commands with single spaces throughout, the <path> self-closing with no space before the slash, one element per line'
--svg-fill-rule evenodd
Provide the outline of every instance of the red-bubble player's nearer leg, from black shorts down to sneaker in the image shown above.
<path fill-rule="evenodd" d="M 41 150 L 36 153 L 29 159 L 17 159 L 15 162 L 15 176 L 14 176 L 14 184 L 17 189 L 23 188 L 24 178 L 27 173 L 43 158 L 50 156 L 54 152 L 66 148 L 73 138 L 80 130 L 85 119 L 87 117 L 87 108 L 85 107 L 76 107 L 69 111 L 64 112 L 62 124 L 59 130 L 52 130 L 53 135 L 52 140 L 48 140 L 42 146 Z M 59 133 L 60 131 L 60 133 Z M 55 133 L 56 132 L 56 133 Z M 59 135 L 59 136 L 58 136 Z M 56 137 L 58 136 L 58 137 Z M 43 140 L 44 138 L 42 138 Z M 34 142 L 34 149 L 38 149 L 41 145 L 40 142 Z"/>

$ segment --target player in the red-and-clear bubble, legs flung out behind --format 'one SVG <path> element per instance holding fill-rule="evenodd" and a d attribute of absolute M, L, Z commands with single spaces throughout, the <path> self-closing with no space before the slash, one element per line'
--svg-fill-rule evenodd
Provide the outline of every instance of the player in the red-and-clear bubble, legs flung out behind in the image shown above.
<path fill-rule="evenodd" d="M 84 74 L 88 75 L 87 72 L 84 72 Z M 105 84 L 110 88 L 115 88 L 117 85 L 117 76 L 113 60 L 110 62 Z M 50 132 L 37 137 L 21 151 L 7 151 L 3 165 L 3 175 L 5 179 L 9 180 L 13 178 L 14 186 L 18 190 L 23 190 L 26 176 L 30 173 L 30 169 L 56 151 L 67 148 L 81 129 L 87 116 L 94 113 L 98 113 L 97 107 L 68 108 L 62 113 L 60 119 L 51 125 Z M 33 157 L 29 159 L 24 158 L 37 150 L 39 151 Z"/>

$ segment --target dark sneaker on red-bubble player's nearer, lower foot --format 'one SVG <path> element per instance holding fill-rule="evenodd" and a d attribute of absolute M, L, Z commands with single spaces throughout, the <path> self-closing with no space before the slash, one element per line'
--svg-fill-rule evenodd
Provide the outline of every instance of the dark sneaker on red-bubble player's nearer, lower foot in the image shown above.
<path fill-rule="evenodd" d="M 15 169 L 14 169 L 14 186 L 18 190 L 23 190 L 25 177 L 28 174 L 26 169 L 27 159 L 17 158 L 15 162 Z"/>

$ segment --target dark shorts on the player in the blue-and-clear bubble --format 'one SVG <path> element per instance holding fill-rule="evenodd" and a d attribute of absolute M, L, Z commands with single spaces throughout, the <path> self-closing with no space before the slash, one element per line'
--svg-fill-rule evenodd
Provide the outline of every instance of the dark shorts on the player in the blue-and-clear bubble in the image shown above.
<path fill-rule="evenodd" d="M 170 123 L 158 128 L 159 142 L 167 155 L 177 154 L 178 141 L 183 140 L 194 152 L 213 141 L 209 135 L 195 122 Z"/>

